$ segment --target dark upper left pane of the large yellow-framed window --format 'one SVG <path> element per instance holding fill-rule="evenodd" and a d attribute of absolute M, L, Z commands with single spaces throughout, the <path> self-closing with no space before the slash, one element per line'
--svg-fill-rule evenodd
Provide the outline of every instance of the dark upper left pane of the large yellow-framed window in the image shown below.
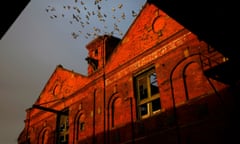
<path fill-rule="evenodd" d="M 139 89 L 139 96 L 140 101 L 148 97 L 147 93 L 147 78 L 143 77 L 138 81 L 138 89 Z"/>

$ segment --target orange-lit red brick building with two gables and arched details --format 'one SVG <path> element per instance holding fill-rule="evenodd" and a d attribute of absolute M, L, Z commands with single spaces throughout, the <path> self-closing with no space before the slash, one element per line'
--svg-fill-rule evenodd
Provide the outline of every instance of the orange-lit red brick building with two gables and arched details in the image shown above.
<path fill-rule="evenodd" d="M 103 35 L 86 48 L 88 75 L 57 66 L 19 144 L 237 140 L 238 80 L 219 74 L 230 60 L 154 4 L 121 40 Z"/>

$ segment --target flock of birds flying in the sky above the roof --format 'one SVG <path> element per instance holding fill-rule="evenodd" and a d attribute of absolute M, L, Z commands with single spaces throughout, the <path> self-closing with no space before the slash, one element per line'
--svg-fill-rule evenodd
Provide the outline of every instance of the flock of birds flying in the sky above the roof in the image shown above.
<path fill-rule="evenodd" d="M 117 0 L 113 7 L 109 7 L 107 0 L 105 3 L 103 0 L 73 1 L 71 4 L 63 5 L 62 8 L 48 5 L 45 10 L 50 19 L 66 18 L 69 24 L 74 25 L 74 32 L 71 33 L 74 39 L 80 36 L 86 39 L 95 38 L 102 34 L 123 36 L 119 24 L 126 19 L 129 20 L 129 16 L 136 17 L 139 12 L 124 10 L 124 5 L 117 3 L 120 2 Z"/>

